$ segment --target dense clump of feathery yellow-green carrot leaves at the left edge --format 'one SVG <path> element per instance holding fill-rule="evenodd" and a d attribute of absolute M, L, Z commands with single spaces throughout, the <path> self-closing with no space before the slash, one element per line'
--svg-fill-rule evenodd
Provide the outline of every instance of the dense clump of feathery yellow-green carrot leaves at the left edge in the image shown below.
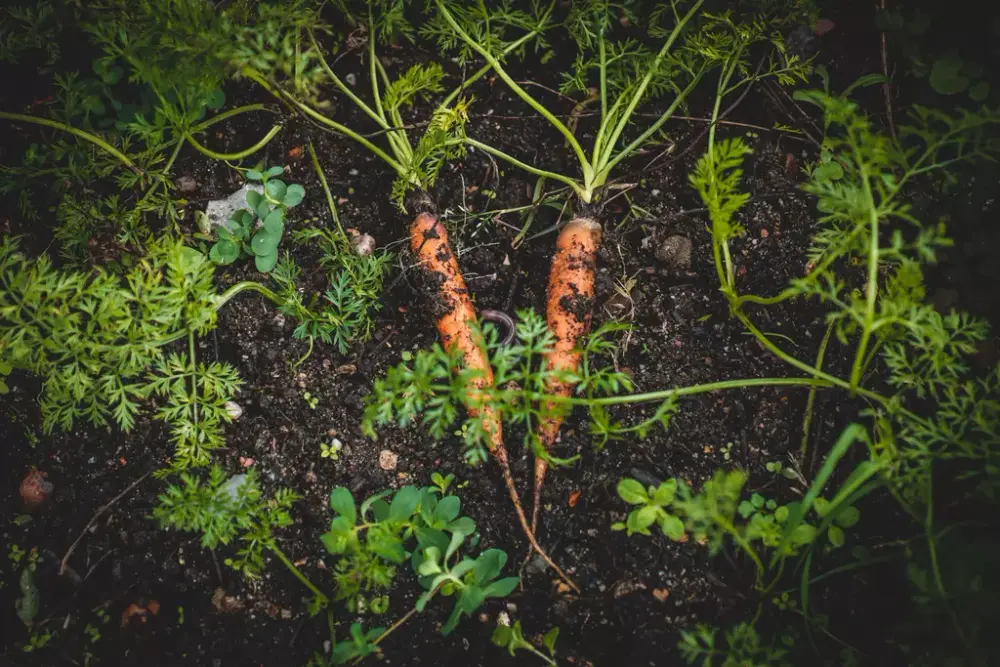
<path fill-rule="evenodd" d="M 8 238 L 0 285 L 0 361 L 42 377 L 46 432 L 78 419 L 127 431 L 142 399 L 157 393 L 177 401 L 158 416 L 172 426 L 178 462 L 204 463 L 206 450 L 220 445 L 235 372 L 219 364 L 196 370 L 194 360 L 163 350 L 215 325 L 212 264 L 201 253 L 162 240 L 123 276 L 62 272 Z M 187 394 L 190 382 L 198 389 Z"/>

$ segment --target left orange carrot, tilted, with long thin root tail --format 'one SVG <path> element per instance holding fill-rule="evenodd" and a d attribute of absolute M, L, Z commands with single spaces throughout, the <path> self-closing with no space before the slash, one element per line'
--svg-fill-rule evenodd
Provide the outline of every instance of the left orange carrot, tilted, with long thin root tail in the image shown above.
<path fill-rule="evenodd" d="M 430 213 L 421 213 L 410 225 L 410 247 L 413 253 L 420 260 L 425 269 L 434 275 L 438 281 L 437 290 L 440 299 L 440 310 L 437 314 L 438 334 L 441 336 L 441 343 L 445 348 L 454 347 L 459 350 L 466 368 L 481 371 L 474 381 L 473 386 L 477 390 L 486 391 L 493 386 L 493 369 L 490 367 L 486 350 L 482 345 L 482 336 L 476 320 L 476 310 L 469 297 L 469 290 L 465 286 L 465 279 L 458 268 L 458 260 L 451 246 L 448 245 L 448 232 L 445 230 L 437 216 Z M 517 511 L 517 518 L 521 522 L 521 528 L 528 538 L 531 547 L 538 552 L 538 555 L 562 577 L 567 584 L 579 592 L 579 588 L 566 576 L 566 573 L 556 565 L 548 554 L 539 546 L 535 540 L 535 533 L 528 526 L 528 519 L 525 516 L 524 508 L 521 505 L 521 498 L 514 484 L 514 477 L 510 472 L 510 461 L 507 456 L 507 448 L 503 442 L 503 428 L 500 423 L 500 416 L 491 407 L 483 407 L 481 410 L 470 410 L 473 417 L 481 416 L 483 430 L 489 434 L 490 440 L 487 448 L 497 463 L 500 464 L 500 471 L 503 474 L 504 482 L 507 484 L 507 491 L 510 499 L 514 503 Z"/>

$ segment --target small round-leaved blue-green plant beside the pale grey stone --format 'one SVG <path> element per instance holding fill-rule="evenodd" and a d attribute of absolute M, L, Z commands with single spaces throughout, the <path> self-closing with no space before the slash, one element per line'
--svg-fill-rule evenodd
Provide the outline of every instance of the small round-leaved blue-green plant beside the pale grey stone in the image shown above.
<path fill-rule="evenodd" d="M 257 270 L 269 273 L 278 263 L 278 244 L 285 233 L 287 211 L 305 197 L 305 189 L 296 183 L 287 185 L 280 178 L 282 167 L 263 171 L 248 169 L 247 181 L 259 183 L 261 192 L 247 192 L 249 208 L 235 211 L 219 227 L 219 240 L 209 257 L 216 264 L 232 264 L 243 256 L 253 257 Z"/>

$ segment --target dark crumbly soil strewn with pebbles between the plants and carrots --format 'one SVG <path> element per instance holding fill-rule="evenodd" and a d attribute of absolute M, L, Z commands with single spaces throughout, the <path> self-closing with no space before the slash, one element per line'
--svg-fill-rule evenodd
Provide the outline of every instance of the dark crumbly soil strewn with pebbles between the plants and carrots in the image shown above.
<path fill-rule="evenodd" d="M 820 40 L 820 60 L 831 68 L 835 87 L 861 73 L 878 71 L 874 29 L 857 27 L 863 22 L 851 16 L 830 14 L 830 18 L 837 27 Z M 838 55 L 846 43 L 856 51 L 850 59 Z M 401 63 L 411 55 L 422 57 L 405 51 L 397 55 Z M 552 70 L 545 70 L 529 67 L 515 78 L 552 83 Z M 363 76 L 360 70 L 358 74 Z M 876 87 L 870 93 L 874 113 L 882 112 L 879 91 Z M 558 167 L 566 159 L 561 139 L 512 99 L 499 82 L 492 87 L 484 84 L 475 92 L 471 136 L 528 162 Z M 227 95 L 234 104 L 268 101 L 239 87 Z M 704 115 L 708 99 L 707 91 L 695 98 L 690 115 Z M 572 104 L 553 101 L 553 107 L 569 113 Z M 338 114 L 363 122 L 347 108 Z M 751 91 L 730 119 L 765 127 L 773 122 L 798 122 L 787 117 L 785 109 L 763 90 Z M 243 115 L 219 126 L 206 143 L 214 150 L 239 150 L 256 141 L 271 122 L 269 116 Z M 707 217 L 687 184 L 687 174 L 704 146 L 702 129 L 697 123 L 671 123 L 673 152 L 654 160 L 666 146 L 650 148 L 626 170 L 622 181 L 637 184 L 629 192 L 632 210 L 644 209 L 648 218 L 629 215 L 624 197 L 613 199 L 599 212 L 605 234 L 593 304 L 595 324 L 607 321 L 609 312 L 631 312 L 634 307 L 634 329 L 616 362 L 630 370 L 641 390 L 791 374 L 746 335 L 739 322 L 728 317 L 719 293 L 711 240 L 705 230 Z M 579 131 L 587 135 L 588 119 L 583 119 Z M 801 174 L 794 165 L 813 157 L 815 149 L 808 142 L 775 132 L 734 126 L 720 130 L 722 136 L 735 133 L 746 137 L 754 149 L 744 178 L 744 187 L 752 193 L 741 214 L 746 235 L 732 244 L 739 288 L 774 294 L 805 271 L 816 214 L 814 202 L 798 189 Z M 253 466 L 267 490 L 288 487 L 303 496 L 294 507 L 295 524 L 282 530 L 279 539 L 281 548 L 301 562 L 303 571 L 321 587 L 330 582 L 318 538 L 330 520 L 327 498 L 331 488 L 347 486 L 361 497 L 403 484 L 427 484 L 434 471 L 455 474 L 462 485 L 463 512 L 476 520 L 481 547 L 504 549 L 510 556 L 506 571 L 516 571 L 527 544 L 494 465 L 469 468 L 461 461 L 459 438 L 434 442 L 418 427 L 382 429 L 377 440 L 360 432 L 363 401 L 373 381 L 398 363 L 404 351 L 435 341 L 434 297 L 426 286 L 412 280 L 405 251 L 407 220 L 387 197 L 391 175 L 353 143 L 297 118 L 288 119 L 264 154 L 257 156 L 267 164 L 288 165 L 286 180 L 306 188 L 307 199 L 294 210 L 290 227 L 317 224 L 315 220 L 327 217 L 308 156 L 289 157 L 292 149 L 308 139 L 316 142 L 335 197 L 342 198 L 340 214 L 345 226 L 371 234 L 380 246 L 397 252 L 397 268 L 387 281 L 372 339 L 347 355 L 317 345 L 296 365 L 307 351 L 306 343 L 292 336 L 295 325 L 290 319 L 256 295 L 240 296 L 220 312 L 218 328 L 198 341 L 199 357 L 233 364 L 245 386 L 237 398 L 243 415 L 227 429 L 228 446 L 217 453 L 216 461 L 229 472 Z M 16 153 L 10 150 L 8 154 Z M 174 173 L 194 179 L 197 190 L 188 198 L 195 207 L 239 187 L 233 170 L 193 150 L 181 153 Z M 533 182 L 533 177 L 513 168 L 498 170 L 484 155 L 471 152 L 445 167 L 433 193 L 438 210 L 454 230 L 461 268 L 481 309 L 513 314 L 544 308 L 554 234 L 532 237 L 514 247 L 512 240 L 520 226 L 516 216 L 506 215 L 499 221 L 492 221 L 491 216 L 471 219 L 473 212 L 487 208 L 524 205 L 530 201 Z M 490 199 L 485 190 L 495 192 L 496 199 Z M 979 222 L 991 212 L 995 213 L 995 203 L 989 195 L 973 193 L 955 213 L 958 254 L 953 253 L 952 263 L 944 265 L 938 285 L 955 292 L 946 295 L 954 303 L 992 316 L 996 322 L 996 303 L 984 296 L 991 283 L 976 268 L 982 264 L 995 280 L 996 264 L 987 266 L 976 259 L 979 263 L 970 269 L 966 261 L 988 245 L 989 239 L 982 240 L 987 232 Z M 543 212 L 532 232 L 554 222 L 554 213 Z M 10 215 L 4 231 L 31 229 Z M 995 241 L 996 233 L 992 233 Z M 657 259 L 659 246 L 670 237 L 675 237 L 674 244 L 676 237 L 690 240 L 689 266 L 671 266 Z M 306 288 L 321 286 L 316 252 L 288 240 L 283 247 L 303 267 Z M 952 275 L 963 269 L 972 277 Z M 616 285 L 633 276 L 635 285 L 623 303 Z M 246 265 L 218 272 L 220 290 L 241 279 L 256 278 L 259 274 Z M 786 302 L 755 311 L 755 316 L 758 326 L 780 339 L 795 356 L 815 357 L 825 329 L 823 311 L 815 304 Z M 849 369 L 847 358 L 834 342 L 826 356 L 827 368 L 843 374 Z M 13 545 L 37 549 L 39 622 L 54 637 L 41 651 L 21 651 L 27 634 L 14 614 L 17 582 L 10 575 L 10 563 L 0 560 L 0 656 L 8 656 L 0 657 L 0 664 L 7 660 L 50 666 L 270 667 L 302 665 L 322 649 L 328 638 L 325 623 L 308 616 L 305 591 L 280 563 L 271 561 L 262 578 L 246 580 L 223 565 L 224 550 L 211 553 L 192 535 L 156 528 L 149 516 L 163 482 L 147 477 L 93 525 L 88 523 L 138 477 L 163 465 L 170 447 L 161 423 L 145 419 L 129 434 L 80 424 L 71 432 L 44 436 L 36 402 L 38 381 L 15 375 L 11 384 L 12 393 L 0 404 L 4 417 L 0 424 L 3 556 Z M 315 408 L 304 399 L 305 392 L 318 398 Z M 662 536 L 628 538 L 612 532 L 611 524 L 623 520 L 626 510 L 615 486 L 624 476 L 640 480 L 678 476 L 698 485 L 717 468 L 739 466 L 750 473 L 753 490 L 781 497 L 788 493 L 785 483 L 768 473 L 765 464 L 787 461 L 786 455 L 798 450 L 805 401 L 804 391 L 784 388 L 705 394 L 683 401 L 669 431 L 654 430 L 645 439 L 611 442 L 600 450 L 593 447 L 583 416 L 574 413 L 563 427 L 556 453 L 580 454 L 581 460 L 550 473 L 539 540 L 574 577 L 582 593 L 563 592 L 550 572 L 529 563 L 522 571 L 521 588 L 505 600 L 487 602 L 479 616 L 464 620 L 449 637 L 437 632 L 449 609 L 441 602 L 430 605 L 382 645 L 382 661 L 393 665 L 514 664 L 515 658 L 490 643 L 497 615 L 503 611 L 520 620 L 529 636 L 559 626 L 561 664 L 678 664 L 679 630 L 699 623 L 727 625 L 753 609 L 751 569 L 733 553 L 713 557 L 694 542 L 677 544 Z M 613 418 L 635 422 L 648 415 L 651 407 L 617 409 Z M 818 394 L 809 434 L 813 465 L 822 459 L 827 443 L 863 407 L 840 392 Z M 517 444 L 521 435 L 510 429 L 507 442 L 515 479 L 522 495 L 528 497 L 531 456 Z M 336 461 L 319 455 L 320 443 L 332 437 L 344 443 Z M 383 450 L 398 457 L 394 470 L 379 466 Z M 55 490 L 38 510 L 25 514 L 18 487 L 33 467 L 46 473 Z M 15 521 L 18 516 L 30 520 Z M 60 560 L 78 537 L 67 561 L 73 575 L 60 576 Z M 832 586 L 823 599 L 831 615 L 837 610 L 856 611 L 838 617 L 842 629 L 853 637 L 869 638 L 870 648 L 877 652 L 885 647 L 873 626 L 891 625 L 900 612 L 899 598 L 876 594 L 891 589 L 891 582 L 880 587 L 870 580 L 868 584 Z M 240 608 L 216 608 L 213 594 L 217 589 L 232 596 Z M 385 618 L 405 613 L 418 595 L 413 576 L 401 568 Z M 159 604 L 158 614 L 123 623 L 129 605 L 147 607 L 153 600 Z M 99 620 L 98 610 L 109 615 L 106 624 Z M 342 609 L 337 618 L 344 627 L 352 620 Z M 370 619 L 365 622 L 373 624 Z M 92 642 L 85 633 L 88 623 L 99 628 L 99 640 Z M 89 663 L 85 653 L 92 656 Z"/>

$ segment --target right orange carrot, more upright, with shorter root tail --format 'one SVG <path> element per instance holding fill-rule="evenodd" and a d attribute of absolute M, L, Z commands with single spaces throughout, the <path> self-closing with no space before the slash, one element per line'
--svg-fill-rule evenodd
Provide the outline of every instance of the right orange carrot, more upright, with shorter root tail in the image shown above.
<path fill-rule="evenodd" d="M 590 331 L 591 311 L 594 300 L 594 268 L 597 249 L 601 245 L 601 225 L 593 218 L 576 217 L 567 224 L 556 239 L 556 253 L 549 272 L 549 292 L 546 302 L 546 320 L 555 337 L 552 349 L 546 355 L 550 371 L 575 373 L 580 365 L 580 338 Z M 569 396 L 573 385 L 561 380 L 549 382 L 547 391 L 557 396 Z M 549 410 L 556 410 L 550 403 Z M 538 439 L 546 451 L 552 448 L 563 411 L 555 411 L 538 425 Z M 542 500 L 542 485 L 549 470 L 548 461 L 535 459 L 535 506 L 531 513 L 531 531 L 538 526 L 538 513 Z"/>

